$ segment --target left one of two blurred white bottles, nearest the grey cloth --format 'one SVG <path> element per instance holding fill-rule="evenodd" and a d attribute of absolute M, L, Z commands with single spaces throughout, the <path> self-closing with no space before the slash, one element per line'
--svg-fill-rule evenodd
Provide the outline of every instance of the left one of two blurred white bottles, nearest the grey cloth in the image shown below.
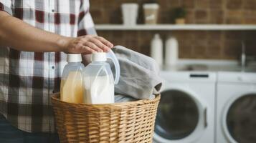
<path fill-rule="evenodd" d="M 159 34 L 155 34 L 151 41 L 151 57 L 161 66 L 163 64 L 163 41 Z"/>

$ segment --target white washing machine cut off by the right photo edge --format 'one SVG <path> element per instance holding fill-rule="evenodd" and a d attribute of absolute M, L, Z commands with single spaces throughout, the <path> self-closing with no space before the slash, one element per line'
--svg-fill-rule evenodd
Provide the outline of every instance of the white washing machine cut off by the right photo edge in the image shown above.
<path fill-rule="evenodd" d="M 217 74 L 217 143 L 256 142 L 256 73 Z"/>

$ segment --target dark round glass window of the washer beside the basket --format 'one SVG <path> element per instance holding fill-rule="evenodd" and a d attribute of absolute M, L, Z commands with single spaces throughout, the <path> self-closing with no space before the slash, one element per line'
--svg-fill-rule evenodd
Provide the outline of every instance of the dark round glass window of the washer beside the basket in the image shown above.
<path fill-rule="evenodd" d="M 196 129 L 199 110 L 191 95 L 169 90 L 161 93 L 155 132 L 164 139 L 183 139 Z"/>

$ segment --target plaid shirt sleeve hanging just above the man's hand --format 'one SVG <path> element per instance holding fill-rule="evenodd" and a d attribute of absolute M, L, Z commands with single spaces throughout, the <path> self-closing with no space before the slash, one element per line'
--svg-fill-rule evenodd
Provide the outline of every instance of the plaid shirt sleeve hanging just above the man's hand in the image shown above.
<path fill-rule="evenodd" d="M 80 14 L 78 18 L 77 36 L 97 35 L 89 9 L 89 0 L 83 0 L 82 5 L 80 6 Z"/>

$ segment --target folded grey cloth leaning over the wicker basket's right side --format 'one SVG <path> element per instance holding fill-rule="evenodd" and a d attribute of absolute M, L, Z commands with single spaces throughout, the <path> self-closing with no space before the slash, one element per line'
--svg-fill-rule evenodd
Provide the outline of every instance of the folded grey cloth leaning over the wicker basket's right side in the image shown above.
<path fill-rule="evenodd" d="M 120 81 L 115 85 L 115 94 L 135 99 L 153 99 L 153 94 L 159 94 L 162 81 L 154 59 L 123 46 L 115 46 L 113 51 L 120 64 Z M 115 101 L 127 102 L 133 99 L 125 100 L 118 95 L 115 96 Z"/>

